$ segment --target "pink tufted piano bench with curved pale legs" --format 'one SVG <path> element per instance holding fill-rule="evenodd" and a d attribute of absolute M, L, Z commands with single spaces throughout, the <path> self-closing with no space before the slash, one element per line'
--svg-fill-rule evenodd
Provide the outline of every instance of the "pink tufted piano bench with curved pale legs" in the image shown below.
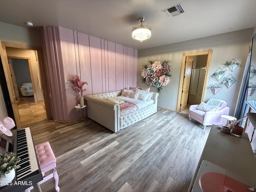
<path fill-rule="evenodd" d="M 36 154 L 38 158 L 38 162 L 40 165 L 40 169 L 43 175 L 43 180 L 38 182 L 38 184 L 42 184 L 45 181 L 49 180 L 50 178 L 54 177 L 55 180 L 55 190 L 56 192 L 60 191 L 60 188 L 58 187 L 58 182 L 59 182 L 59 176 L 56 171 L 56 158 L 54 156 L 54 153 L 52 151 L 52 148 L 50 146 L 49 142 L 44 142 L 42 144 L 36 145 Z M 52 172 L 44 176 L 44 173 L 51 171 Z M 33 189 L 33 186 L 30 188 L 26 189 L 25 192 L 30 192 L 30 190 Z"/>

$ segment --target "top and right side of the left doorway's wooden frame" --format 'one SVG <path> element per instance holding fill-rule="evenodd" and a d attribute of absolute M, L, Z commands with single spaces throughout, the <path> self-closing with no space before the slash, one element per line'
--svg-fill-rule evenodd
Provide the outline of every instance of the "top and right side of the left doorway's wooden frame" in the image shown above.
<path fill-rule="evenodd" d="M 10 48 L 18 48 L 18 49 L 26 49 L 26 50 L 35 50 L 38 56 L 38 66 L 39 66 L 39 74 L 40 74 L 40 79 L 41 79 L 41 86 L 43 90 L 43 97 L 44 97 L 44 105 L 46 109 L 46 116 L 47 118 L 52 118 L 52 113 L 51 113 L 51 108 L 50 108 L 50 93 L 48 90 L 48 84 L 47 84 L 47 77 L 46 77 L 46 69 L 44 68 L 44 61 L 42 58 L 42 49 L 40 47 L 34 47 L 34 46 L 28 46 L 24 44 L 16 44 L 16 43 L 11 43 L 11 42 L 4 42 L 2 41 L 2 44 L 5 47 L 10 47 Z M 6 54 L 7 55 L 7 54 Z M 28 58 L 26 58 L 28 59 Z M 6 106 L 7 107 L 7 106 Z"/>

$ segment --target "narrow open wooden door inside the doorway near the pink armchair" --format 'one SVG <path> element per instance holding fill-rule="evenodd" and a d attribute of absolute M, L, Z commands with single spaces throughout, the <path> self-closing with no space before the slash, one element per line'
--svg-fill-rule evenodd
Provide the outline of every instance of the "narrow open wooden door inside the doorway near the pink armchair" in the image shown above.
<path fill-rule="evenodd" d="M 188 93 L 190 87 L 190 76 L 194 59 L 191 57 L 186 57 L 183 85 L 182 85 L 182 94 L 180 101 L 180 111 L 183 111 L 187 107 L 188 103 Z"/>

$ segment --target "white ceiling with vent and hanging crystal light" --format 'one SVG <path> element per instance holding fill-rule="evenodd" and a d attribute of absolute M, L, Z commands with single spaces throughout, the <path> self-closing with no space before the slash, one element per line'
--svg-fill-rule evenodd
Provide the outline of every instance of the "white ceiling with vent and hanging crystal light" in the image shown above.
<path fill-rule="evenodd" d="M 161 12 L 178 3 L 186 12 Z M 28 27 L 62 26 L 136 49 L 144 49 L 256 26 L 256 0 L 2 0 L 0 21 Z M 132 39 L 131 29 L 145 17 L 152 36 Z"/>

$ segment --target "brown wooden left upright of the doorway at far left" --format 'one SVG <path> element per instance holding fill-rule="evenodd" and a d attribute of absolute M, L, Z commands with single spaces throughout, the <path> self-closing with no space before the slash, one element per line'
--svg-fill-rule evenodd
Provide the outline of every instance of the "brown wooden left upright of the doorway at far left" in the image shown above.
<path fill-rule="evenodd" d="M 17 126 L 17 128 L 21 128 L 20 115 L 19 115 L 18 106 L 17 106 L 18 101 L 16 100 L 16 96 L 15 96 L 15 92 L 14 92 L 14 88 L 13 88 L 13 84 L 12 84 L 12 76 L 11 76 L 10 67 L 8 64 L 8 58 L 7 58 L 5 46 L 1 41 L 0 41 L 0 56 L 1 56 L 2 64 L 3 64 L 3 68 L 4 68 L 4 74 L 5 74 L 5 78 L 6 78 L 8 92 L 9 92 L 10 99 L 12 102 L 12 110 L 14 113 L 16 126 Z"/>

